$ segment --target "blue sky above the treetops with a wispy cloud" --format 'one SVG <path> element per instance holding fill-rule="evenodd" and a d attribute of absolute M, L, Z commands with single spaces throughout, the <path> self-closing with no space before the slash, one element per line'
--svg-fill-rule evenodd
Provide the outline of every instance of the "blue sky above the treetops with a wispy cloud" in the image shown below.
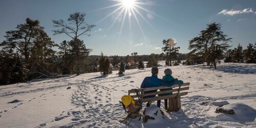
<path fill-rule="evenodd" d="M 132 52 L 138 52 L 139 55 L 159 54 L 162 53 L 160 49 L 163 47 L 162 40 L 170 37 L 176 39 L 177 46 L 181 47 L 181 53 L 187 53 L 188 40 L 198 36 L 199 32 L 206 28 L 206 24 L 212 22 L 220 23 L 223 32 L 233 38 L 230 43 L 233 47 L 237 47 L 240 43 L 245 48 L 249 42 L 254 44 L 256 41 L 256 1 L 138 0 L 136 2 L 146 3 L 137 5 L 150 11 L 134 6 L 144 17 L 143 19 L 135 11 L 140 27 L 132 12 L 126 14 L 124 22 L 122 22 L 124 11 L 117 18 L 122 8 L 102 20 L 119 6 L 99 9 L 121 3 L 115 0 L 0 1 L 0 41 L 5 39 L 6 31 L 15 30 L 16 25 L 24 24 L 27 17 L 38 19 L 56 44 L 63 40 L 71 40 L 64 34 L 53 35 L 52 30 L 55 28 L 52 20 L 66 20 L 74 12 L 86 12 L 87 23 L 96 25 L 90 32 L 91 36 L 80 37 L 87 48 L 93 49 L 92 55 L 99 55 L 101 51 L 106 55 L 127 55 Z M 115 19 L 116 23 L 113 24 Z M 112 24 L 113 27 L 110 29 Z"/>

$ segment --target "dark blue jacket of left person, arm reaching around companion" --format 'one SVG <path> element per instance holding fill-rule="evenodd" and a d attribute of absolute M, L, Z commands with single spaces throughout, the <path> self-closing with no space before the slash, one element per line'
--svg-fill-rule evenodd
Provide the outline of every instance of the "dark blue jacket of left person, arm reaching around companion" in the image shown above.
<path fill-rule="evenodd" d="M 143 82 L 141 83 L 140 88 L 150 88 L 150 87 L 159 87 L 159 86 L 168 86 L 171 87 L 173 86 L 178 80 L 175 79 L 173 81 L 163 81 L 162 79 L 157 78 L 157 75 L 152 75 L 145 77 Z M 154 93 L 157 92 L 157 90 L 153 91 L 145 91 L 144 94 L 146 93 Z M 150 97 L 155 97 L 156 95 L 152 96 L 144 96 L 143 98 L 150 98 Z"/>

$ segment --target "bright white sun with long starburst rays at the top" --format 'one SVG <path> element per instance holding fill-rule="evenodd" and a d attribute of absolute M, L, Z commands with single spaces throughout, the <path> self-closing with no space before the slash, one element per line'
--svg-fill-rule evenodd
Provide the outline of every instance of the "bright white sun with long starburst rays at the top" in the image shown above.
<path fill-rule="evenodd" d="M 100 11 L 100 10 L 104 10 L 104 9 L 114 8 L 114 7 L 117 7 L 117 8 L 115 10 L 113 10 L 112 12 L 110 12 L 105 17 L 103 17 L 102 19 L 100 19 L 96 23 L 96 25 L 98 25 L 99 23 L 101 23 L 103 20 L 105 20 L 106 18 L 108 18 L 110 16 L 114 17 L 111 26 L 106 31 L 106 33 L 108 33 L 111 30 L 111 28 L 115 25 L 115 23 L 119 21 L 119 23 L 121 23 L 121 26 L 120 26 L 120 30 L 118 32 L 117 42 L 119 42 L 123 26 L 125 25 L 124 24 L 125 19 L 127 19 L 128 20 L 127 22 L 129 23 L 129 30 L 130 30 L 130 38 L 131 38 L 131 40 L 132 40 L 132 22 L 131 22 L 132 19 L 135 19 L 135 21 L 137 23 L 137 27 L 140 29 L 140 31 L 141 31 L 141 33 L 143 35 L 144 40 L 145 41 L 147 40 L 139 20 L 143 19 L 144 22 L 148 26 L 150 26 L 152 29 L 155 29 L 155 28 L 151 25 L 150 22 L 148 22 L 147 18 L 140 11 L 146 12 L 147 15 L 151 14 L 151 15 L 158 16 L 158 17 L 160 17 L 160 18 L 162 18 L 164 20 L 167 20 L 164 17 L 162 17 L 160 15 L 157 15 L 153 11 L 147 10 L 146 8 L 142 7 L 142 6 L 148 6 L 148 5 L 151 6 L 151 5 L 155 5 L 155 4 L 144 3 L 144 2 L 141 2 L 142 0 L 109 0 L 109 1 L 116 2 L 116 4 L 110 5 L 110 6 L 106 6 L 106 7 L 103 7 L 103 8 L 99 8 L 99 9 L 96 9 L 94 11 Z"/>

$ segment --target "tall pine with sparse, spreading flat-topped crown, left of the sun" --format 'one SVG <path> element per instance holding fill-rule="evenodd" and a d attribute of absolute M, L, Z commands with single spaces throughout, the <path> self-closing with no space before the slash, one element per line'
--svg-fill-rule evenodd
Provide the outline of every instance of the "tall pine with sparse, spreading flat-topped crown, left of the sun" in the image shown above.
<path fill-rule="evenodd" d="M 88 50 L 82 50 L 83 48 L 84 49 L 86 48 L 83 45 L 83 41 L 78 39 L 78 37 L 80 37 L 81 35 L 90 36 L 88 32 L 90 32 L 92 28 L 95 27 L 95 25 L 89 25 L 86 23 L 84 19 L 85 16 L 86 16 L 86 13 L 75 12 L 73 14 L 70 14 L 67 22 L 64 22 L 64 20 L 62 19 L 52 20 L 54 27 L 60 28 L 57 30 L 53 30 L 54 35 L 63 33 L 72 38 L 72 40 L 70 41 L 70 45 L 72 48 L 72 52 L 74 53 L 74 54 L 72 53 L 72 59 L 74 58 L 77 59 L 77 63 L 76 63 L 77 75 L 80 74 L 81 57 L 83 55 L 89 54 Z M 73 62 L 72 62 L 72 72 L 73 72 Z"/>

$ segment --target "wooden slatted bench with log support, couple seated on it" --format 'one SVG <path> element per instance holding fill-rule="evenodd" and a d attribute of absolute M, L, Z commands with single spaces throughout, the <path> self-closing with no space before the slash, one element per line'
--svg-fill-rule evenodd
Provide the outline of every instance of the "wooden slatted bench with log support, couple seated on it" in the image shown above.
<path fill-rule="evenodd" d="M 181 109 L 181 101 L 180 101 L 180 96 L 187 95 L 187 92 L 184 92 L 185 90 L 188 90 L 189 87 L 189 82 L 188 83 L 183 83 L 181 85 L 175 84 L 172 87 L 165 87 L 165 86 L 160 86 L 160 87 L 152 87 L 152 88 L 141 88 L 141 89 L 132 89 L 128 91 L 128 94 L 132 94 L 131 96 L 135 99 L 138 100 L 138 97 L 140 97 L 142 102 L 148 102 L 148 101 L 157 101 L 157 100 L 163 100 L 163 99 L 168 99 L 168 111 L 169 112 L 177 112 Z M 173 88 L 172 90 L 167 90 L 167 91 L 160 91 L 160 89 L 170 89 Z M 153 93 L 144 93 L 145 91 L 153 91 L 157 90 L 157 92 Z M 137 95 L 137 92 L 139 93 Z M 165 94 L 165 93 L 173 93 L 172 95 L 166 95 L 166 96 L 158 96 L 158 94 Z M 135 95 L 133 94 L 135 93 Z M 143 98 L 145 96 L 152 96 L 156 95 L 156 97 L 151 97 L 151 98 Z"/>

